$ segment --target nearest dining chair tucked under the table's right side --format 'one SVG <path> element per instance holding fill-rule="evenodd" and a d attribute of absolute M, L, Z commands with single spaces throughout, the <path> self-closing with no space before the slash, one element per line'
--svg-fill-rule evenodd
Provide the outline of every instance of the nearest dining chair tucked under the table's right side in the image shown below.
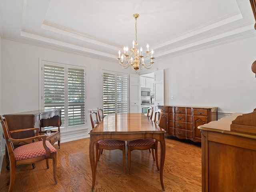
<path fill-rule="evenodd" d="M 160 125 L 160 122 L 162 120 L 162 114 L 163 114 L 162 109 L 158 109 L 155 112 L 154 123 Z M 148 139 L 137 139 L 137 140 L 128 141 L 127 148 L 128 148 L 128 172 L 130 172 L 131 151 L 148 150 L 148 149 L 149 150 L 152 149 L 152 157 L 153 157 L 153 160 L 156 161 L 157 170 L 159 170 L 158 152 L 157 152 L 158 142 L 155 139 L 148 138 Z M 155 150 L 156 159 L 154 156 L 154 150 Z"/>

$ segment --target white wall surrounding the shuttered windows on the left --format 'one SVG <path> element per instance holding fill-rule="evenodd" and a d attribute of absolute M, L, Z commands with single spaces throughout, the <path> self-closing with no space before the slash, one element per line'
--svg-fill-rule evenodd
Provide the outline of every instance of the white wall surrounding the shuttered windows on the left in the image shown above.
<path fill-rule="evenodd" d="M 115 58 L 113 58 L 113 62 L 109 62 L 88 58 L 81 54 L 2 39 L 1 114 L 40 109 L 40 59 L 86 67 L 87 111 L 101 106 L 101 69 L 124 72 Z M 61 132 L 61 142 L 88 137 L 88 132 L 91 130 L 89 113 L 87 113 L 86 119 L 87 126 L 84 130 L 72 133 Z"/>

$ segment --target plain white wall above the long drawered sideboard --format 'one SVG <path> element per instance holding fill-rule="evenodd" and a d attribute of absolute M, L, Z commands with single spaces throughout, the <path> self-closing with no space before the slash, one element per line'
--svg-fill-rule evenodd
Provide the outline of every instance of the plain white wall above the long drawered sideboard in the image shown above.
<path fill-rule="evenodd" d="M 220 113 L 256 108 L 256 34 L 155 61 L 164 69 L 165 104 L 217 106 Z M 174 99 L 171 99 L 171 95 Z"/>

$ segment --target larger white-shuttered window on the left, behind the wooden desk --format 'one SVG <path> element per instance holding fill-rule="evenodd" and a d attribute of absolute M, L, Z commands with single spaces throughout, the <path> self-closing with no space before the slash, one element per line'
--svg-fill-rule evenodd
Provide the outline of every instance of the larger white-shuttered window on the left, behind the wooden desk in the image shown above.
<path fill-rule="evenodd" d="M 85 74 L 84 67 L 42 61 L 42 106 L 61 109 L 66 130 L 84 128 Z"/>

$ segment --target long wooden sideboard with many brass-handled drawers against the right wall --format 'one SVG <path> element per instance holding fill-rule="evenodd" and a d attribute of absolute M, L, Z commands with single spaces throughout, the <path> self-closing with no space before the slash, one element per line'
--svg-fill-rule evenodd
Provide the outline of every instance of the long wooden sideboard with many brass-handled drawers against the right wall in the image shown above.
<path fill-rule="evenodd" d="M 198 126 L 217 120 L 218 107 L 158 106 L 163 110 L 160 127 L 166 134 L 201 142 Z"/>

